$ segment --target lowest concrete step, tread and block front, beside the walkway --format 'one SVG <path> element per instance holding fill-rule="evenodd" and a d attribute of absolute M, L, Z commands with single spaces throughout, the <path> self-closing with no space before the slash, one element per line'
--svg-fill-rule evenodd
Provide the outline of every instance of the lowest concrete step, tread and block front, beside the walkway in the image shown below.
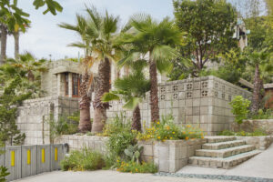
<path fill-rule="evenodd" d="M 235 167 L 251 157 L 258 155 L 261 151 L 253 150 L 233 157 L 215 158 L 215 157 L 189 157 L 188 164 L 198 167 L 217 167 L 231 168 Z"/>

